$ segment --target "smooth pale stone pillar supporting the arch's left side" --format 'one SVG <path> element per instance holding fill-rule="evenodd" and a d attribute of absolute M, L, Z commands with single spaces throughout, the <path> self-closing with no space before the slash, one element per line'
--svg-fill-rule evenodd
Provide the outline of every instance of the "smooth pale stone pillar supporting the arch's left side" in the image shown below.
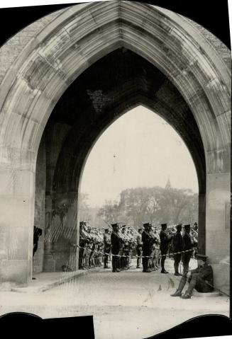
<path fill-rule="evenodd" d="M 0 283 L 31 280 L 35 173 L 0 165 Z"/>

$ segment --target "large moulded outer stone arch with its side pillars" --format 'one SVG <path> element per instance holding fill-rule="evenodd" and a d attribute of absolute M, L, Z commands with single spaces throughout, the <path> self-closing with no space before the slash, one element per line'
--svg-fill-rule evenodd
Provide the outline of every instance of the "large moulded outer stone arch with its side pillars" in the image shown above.
<path fill-rule="evenodd" d="M 206 159 L 206 253 L 216 275 L 226 272 L 228 264 L 219 263 L 229 255 L 228 55 L 216 50 L 192 21 L 163 8 L 110 1 L 59 14 L 35 33 L 1 82 L 1 226 L 10 248 L 2 256 L 1 280 L 25 284 L 31 279 L 36 156 L 57 100 L 85 69 L 121 47 L 165 74 L 194 117 Z"/>

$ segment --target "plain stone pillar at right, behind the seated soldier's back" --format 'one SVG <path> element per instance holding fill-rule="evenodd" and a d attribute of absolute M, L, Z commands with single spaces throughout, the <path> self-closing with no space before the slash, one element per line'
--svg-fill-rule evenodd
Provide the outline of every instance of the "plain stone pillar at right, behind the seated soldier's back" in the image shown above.
<path fill-rule="evenodd" d="M 214 269 L 214 285 L 229 294 L 230 173 L 206 176 L 206 255 Z"/>

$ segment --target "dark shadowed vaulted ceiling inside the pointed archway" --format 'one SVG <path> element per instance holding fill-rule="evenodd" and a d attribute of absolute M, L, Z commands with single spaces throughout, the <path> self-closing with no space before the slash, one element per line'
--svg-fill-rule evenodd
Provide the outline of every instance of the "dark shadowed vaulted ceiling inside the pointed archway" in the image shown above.
<path fill-rule="evenodd" d="M 162 72 L 125 48 L 107 54 L 84 71 L 50 115 L 49 126 L 63 124 L 68 131 L 55 170 L 57 190 L 77 185 L 84 159 L 99 134 L 139 104 L 161 115 L 180 134 L 192 154 L 199 190 L 204 190 L 204 148 L 187 103 Z"/>

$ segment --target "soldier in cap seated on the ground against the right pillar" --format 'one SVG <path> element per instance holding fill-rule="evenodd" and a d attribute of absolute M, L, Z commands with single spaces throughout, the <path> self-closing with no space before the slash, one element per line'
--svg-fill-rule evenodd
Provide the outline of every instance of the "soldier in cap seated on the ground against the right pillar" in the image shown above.
<path fill-rule="evenodd" d="M 192 297 L 193 289 L 197 289 L 197 292 L 209 293 L 214 290 L 214 276 L 211 265 L 207 265 L 207 256 L 204 254 L 197 254 L 197 265 L 195 270 L 191 270 L 187 275 L 183 275 L 179 287 L 172 297 L 182 297 L 182 299 L 190 299 Z M 186 282 L 189 282 L 189 287 L 185 294 L 182 296 L 182 290 Z"/>

